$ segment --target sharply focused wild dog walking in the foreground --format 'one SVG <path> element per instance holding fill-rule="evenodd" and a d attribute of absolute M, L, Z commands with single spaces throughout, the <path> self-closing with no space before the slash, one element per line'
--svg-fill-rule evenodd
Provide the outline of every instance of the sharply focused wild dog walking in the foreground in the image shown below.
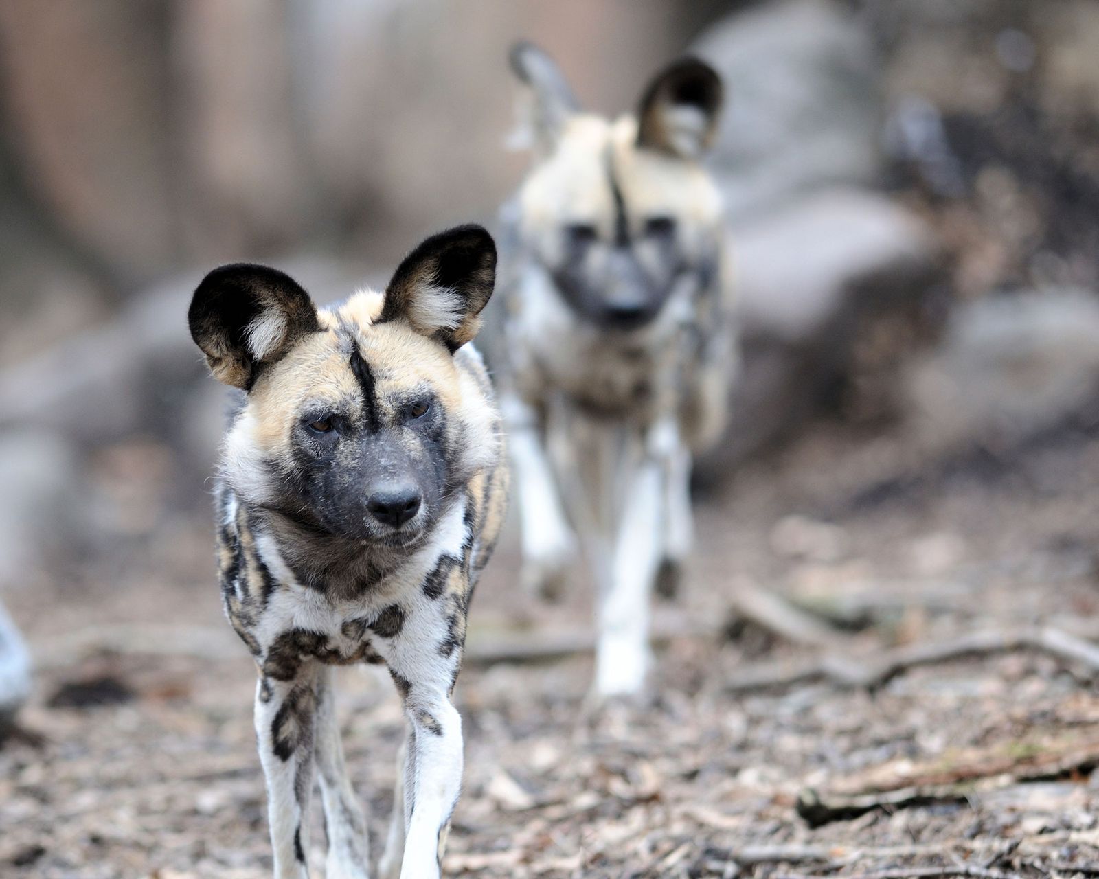
<path fill-rule="evenodd" d="M 252 652 L 275 875 L 301 879 L 314 766 L 326 876 L 368 876 L 331 666 L 387 666 L 409 734 L 384 876 L 436 877 L 462 785 L 451 694 L 466 613 L 500 531 L 507 469 L 492 390 L 468 344 L 492 293 L 480 226 L 424 241 L 385 293 L 318 310 L 280 271 L 231 265 L 188 319 L 213 375 L 245 394 L 225 437 L 218 554 Z"/>

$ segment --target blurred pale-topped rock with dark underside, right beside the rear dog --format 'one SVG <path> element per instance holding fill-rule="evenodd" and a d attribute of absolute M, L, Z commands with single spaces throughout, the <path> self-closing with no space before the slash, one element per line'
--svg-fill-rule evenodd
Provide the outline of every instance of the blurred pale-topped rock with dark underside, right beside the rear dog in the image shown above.
<path fill-rule="evenodd" d="M 710 456 L 721 468 L 815 412 L 848 365 L 857 322 L 910 304 L 940 272 L 925 224 L 854 189 L 820 191 L 741 223 L 732 246 L 744 368 L 729 435 Z"/>

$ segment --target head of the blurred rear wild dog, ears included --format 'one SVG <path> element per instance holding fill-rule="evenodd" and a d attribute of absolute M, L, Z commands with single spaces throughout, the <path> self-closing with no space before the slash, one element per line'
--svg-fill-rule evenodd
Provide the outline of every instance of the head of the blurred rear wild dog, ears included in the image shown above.
<path fill-rule="evenodd" d="M 609 330 L 652 321 L 681 283 L 715 270 L 721 205 L 699 159 L 711 145 L 721 80 L 695 58 L 660 71 L 635 113 L 584 112 L 554 62 L 521 43 L 535 164 L 519 192 L 520 236 L 560 297 Z"/>

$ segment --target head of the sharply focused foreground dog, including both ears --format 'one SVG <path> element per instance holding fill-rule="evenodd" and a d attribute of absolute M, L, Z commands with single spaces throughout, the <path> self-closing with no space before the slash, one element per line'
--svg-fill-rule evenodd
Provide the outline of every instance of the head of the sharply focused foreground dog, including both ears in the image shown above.
<path fill-rule="evenodd" d="M 492 293 L 480 226 L 424 241 L 385 293 L 318 310 L 290 277 L 229 265 L 188 320 L 213 375 L 245 392 L 223 476 L 245 503 L 309 532 L 412 546 L 495 457 L 485 389 L 456 357 Z"/>

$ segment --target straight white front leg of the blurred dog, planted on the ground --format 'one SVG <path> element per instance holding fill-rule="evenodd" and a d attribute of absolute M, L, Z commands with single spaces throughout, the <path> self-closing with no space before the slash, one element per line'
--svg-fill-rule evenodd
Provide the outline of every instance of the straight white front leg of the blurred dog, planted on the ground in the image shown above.
<path fill-rule="evenodd" d="M 660 554 L 660 467 L 644 457 L 626 474 L 609 582 L 601 580 L 596 693 L 636 693 L 650 664 L 650 597 Z"/>

